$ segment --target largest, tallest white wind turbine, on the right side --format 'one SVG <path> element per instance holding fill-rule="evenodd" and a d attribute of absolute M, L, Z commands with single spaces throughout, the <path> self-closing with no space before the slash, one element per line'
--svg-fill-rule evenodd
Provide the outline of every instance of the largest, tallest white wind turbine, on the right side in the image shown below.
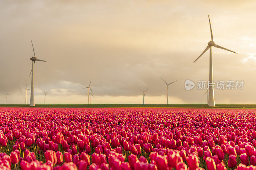
<path fill-rule="evenodd" d="M 212 36 L 212 26 L 211 26 L 211 22 L 210 22 L 210 17 L 208 15 L 208 18 L 209 18 L 209 23 L 210 23 L 210 30 L 211 30 L 211 38 L 212 40 L 208 42 L 208 46 L 205 48 L 205 50 L 203 51 L 203 53 L 201 55 L 199 55 L 199 57 L 197 57 L 196 60 L 198 60 L 198 58 L 200 58 L 204 53 L 205 51 L 207 51 L 209 48 L 210 48 L 210 71 L 209 71 L 209 95 L 208 95 L 208 106 L 210 107 L 215 107 L 215 102 L 214 102 L 214 91 L 213 91 L 213 70 L 212 70 L 212 46 L 213 47 L 217 47 L 217 48 L 221 48 L 221 49 L 225 49 L 227 51 L 230 51 L 232 53 L 236 53 L 234 51 L 231 51 L 227 48 L 224 48 L 224 47 L 221 47 L 217 44 L 215 44 L 215 42 L 213 41 L 213 36 Z M 237 53 L 236 53 L 237 54 Z M 196 62 L 196 60 L 194 61 L 194 63 Z"/>

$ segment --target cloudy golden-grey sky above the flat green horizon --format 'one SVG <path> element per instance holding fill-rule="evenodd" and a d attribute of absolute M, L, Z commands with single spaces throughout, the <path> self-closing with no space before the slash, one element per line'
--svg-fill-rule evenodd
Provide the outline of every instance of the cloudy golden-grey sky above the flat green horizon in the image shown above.
<path fill-rule="evenodd" d="M 244 81 L 242 90 L 214 89 L 215 104 L 255 104 L 256 1 L 4 1 L 0 0 L 0 104 L 25 104 L 33 56 L 35 103 L 206 104 L 199 80 Z M 194 89 L 186 90 L 192 80 Z M 139 89 L 140 88 L 140 89 Z M 30 92 L 28 92 L 29 102 Z"/>

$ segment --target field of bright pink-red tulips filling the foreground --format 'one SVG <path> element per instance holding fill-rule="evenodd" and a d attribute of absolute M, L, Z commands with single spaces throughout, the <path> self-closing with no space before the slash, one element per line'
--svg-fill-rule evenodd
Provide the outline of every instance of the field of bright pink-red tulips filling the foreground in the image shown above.
<path fill-rule="evenodd" d="M 256 170 L 256 110 L 0 108 L 0 169 Z"/>

